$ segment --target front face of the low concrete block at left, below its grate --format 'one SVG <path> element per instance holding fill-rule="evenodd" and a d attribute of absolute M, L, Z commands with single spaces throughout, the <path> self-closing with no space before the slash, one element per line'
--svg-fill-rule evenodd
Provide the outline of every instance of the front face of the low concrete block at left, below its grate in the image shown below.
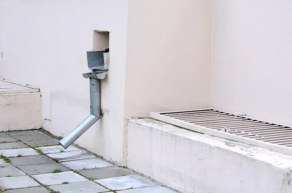
<path fill-rule="evenodd" d="M 0 95 L 0 131 L 39 129 L 41 95 L 16 93 Z"/>

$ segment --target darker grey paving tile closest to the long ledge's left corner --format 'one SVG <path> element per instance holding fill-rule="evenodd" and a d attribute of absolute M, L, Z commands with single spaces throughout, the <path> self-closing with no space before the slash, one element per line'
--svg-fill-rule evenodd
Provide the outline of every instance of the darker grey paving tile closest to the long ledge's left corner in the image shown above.
<path fill-rule="evenodd" d="M 67 162 L 64 162 L 67 163 Z M 78 171 L 82 176 L 85 177 L 93 177 L 95 179 L 103 179 L 109 177 L 119 177 L 119 176 L 128 176 L 133 175 L 134 172 L 121 168 L 118 166 L 110 166 L 110 167 L 101 167 L 89 170 L 80 170 Z"/>

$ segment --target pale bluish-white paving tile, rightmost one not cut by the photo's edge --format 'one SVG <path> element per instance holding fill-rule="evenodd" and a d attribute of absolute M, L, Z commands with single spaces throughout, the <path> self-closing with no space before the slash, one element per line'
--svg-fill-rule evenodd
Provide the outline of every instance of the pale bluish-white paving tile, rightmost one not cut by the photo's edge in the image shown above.
<path fill-rule="evenodd" d="M 111 177 L 94 181 L 111 190 L 125 190 L 129 188 L 140 188 L 157 185 L 157 183 L 150 181 L 149 178 L 138 175 Z"/>

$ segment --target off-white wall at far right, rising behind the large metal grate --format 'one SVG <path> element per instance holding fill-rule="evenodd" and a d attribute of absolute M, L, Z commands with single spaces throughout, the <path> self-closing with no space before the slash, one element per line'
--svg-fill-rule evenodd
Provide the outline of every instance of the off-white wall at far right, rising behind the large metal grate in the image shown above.
<path fill-rule="evenodd" d="M 212 106 L 292 125 L 292 1 L 215 0 Z"/>

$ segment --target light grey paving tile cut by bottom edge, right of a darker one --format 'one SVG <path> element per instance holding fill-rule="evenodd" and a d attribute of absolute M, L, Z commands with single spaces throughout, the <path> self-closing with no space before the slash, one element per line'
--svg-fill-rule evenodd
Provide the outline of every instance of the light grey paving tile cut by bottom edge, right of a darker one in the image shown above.
<path fill-rule="evenodd" d="M 50 186 L 54 191 L 59 191 L 60 193 L 103 193 L 110 190 L 94 183 L 93 181 L 75 182 L 70 184 L 60 184 Z"/>

